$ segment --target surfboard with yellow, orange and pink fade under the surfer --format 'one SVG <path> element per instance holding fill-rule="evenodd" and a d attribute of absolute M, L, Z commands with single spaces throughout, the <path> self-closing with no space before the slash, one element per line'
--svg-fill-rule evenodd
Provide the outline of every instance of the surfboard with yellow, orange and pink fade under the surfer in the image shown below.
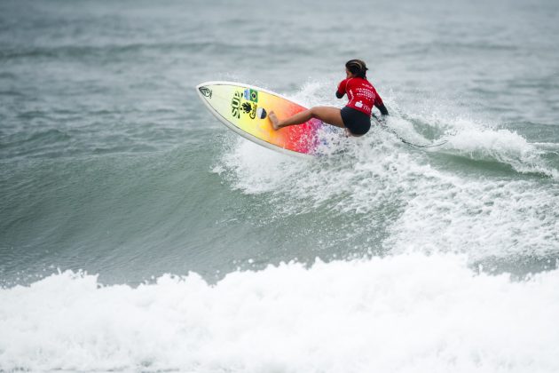
<path fill-rule="evenodd" d="M 206 82 L 196 91 L 209 111 L 230 130 L 263 147 L 290 155 L 311 157 L 320 144 L 318 119 L 274 131 L 268 113 L 287 118 L 306 107 L 278 93 L 253 85 L 233 82 Z"/>

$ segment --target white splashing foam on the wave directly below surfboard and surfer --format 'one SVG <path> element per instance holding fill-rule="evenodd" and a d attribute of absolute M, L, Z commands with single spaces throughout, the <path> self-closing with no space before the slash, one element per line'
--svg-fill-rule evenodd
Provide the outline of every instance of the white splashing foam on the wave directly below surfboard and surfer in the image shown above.
<path fill-rule="evenodd" d="M 553 189 L 533 180 L 468 179 L 437 171 L 383 136 L 390 134 L 376 130 L 347 145 L 342 157 L 311 163 L 243 144 L 235 156 L 228 154 L 232 185 L 245 193 L 269 193 L 276 210 L 350 213 L 372 230 L 379 226 L 373 224 L 377 211 L 389 204 L 392 216 L 381 219 L 389 233 L 382 246 L 394 252 L 468 252 L 471 260 L 557 252 L 559 195 Z"/>

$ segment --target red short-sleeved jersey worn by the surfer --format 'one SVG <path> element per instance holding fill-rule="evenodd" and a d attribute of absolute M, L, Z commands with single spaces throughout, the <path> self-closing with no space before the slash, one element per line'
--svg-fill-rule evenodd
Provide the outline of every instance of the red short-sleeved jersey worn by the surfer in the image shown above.
<path fill-rule="evenodd" d="M 361 111 L 366 115 L 371 115 L 374 106 L 381 107 L 384 105 L 381 96 L 376 92 L 373 84 L 360 77 L 342 80 L 338 85 L 338 97 L 341 98 L 345 93 L 348 94 L 348 99 L 350 100 L 346 106 Z"/>

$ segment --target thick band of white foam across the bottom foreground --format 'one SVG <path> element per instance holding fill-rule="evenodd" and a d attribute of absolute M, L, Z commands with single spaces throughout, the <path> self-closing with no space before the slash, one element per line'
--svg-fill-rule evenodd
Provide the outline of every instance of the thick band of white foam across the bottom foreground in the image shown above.
<path fill-rule="evenodd" d="M 0 290 L 0 369 L 556 372 L 559 271 L 522 282 L 418 253 Z"/>

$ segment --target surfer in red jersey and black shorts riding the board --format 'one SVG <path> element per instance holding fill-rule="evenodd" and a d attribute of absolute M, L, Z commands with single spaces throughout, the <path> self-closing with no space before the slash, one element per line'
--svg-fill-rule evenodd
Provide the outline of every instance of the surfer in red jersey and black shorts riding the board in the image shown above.
<path fill-rule="evenodd" d="M 382 115 L 388 115 L 388 110 L 382 103 L 381 96 L 374 89 L 373 84 L 366 80 L 365 62 L 349 60 L 345 64 L 346 78 L 338 84 L 335 96 L 338 99 L 347 94 L 348 104 L 339 109 L 337 107 L 311 107 L 280 121 L 273 111 L 268 116 L 272 127 L 278 131 L 290 125 L 303 124 L 311 118 L 317 118 L 324 123 L 344 128 L 350 136 L 363 136 L 371 128 L 371 114 L 373 107 L 377 107 Z"/>

